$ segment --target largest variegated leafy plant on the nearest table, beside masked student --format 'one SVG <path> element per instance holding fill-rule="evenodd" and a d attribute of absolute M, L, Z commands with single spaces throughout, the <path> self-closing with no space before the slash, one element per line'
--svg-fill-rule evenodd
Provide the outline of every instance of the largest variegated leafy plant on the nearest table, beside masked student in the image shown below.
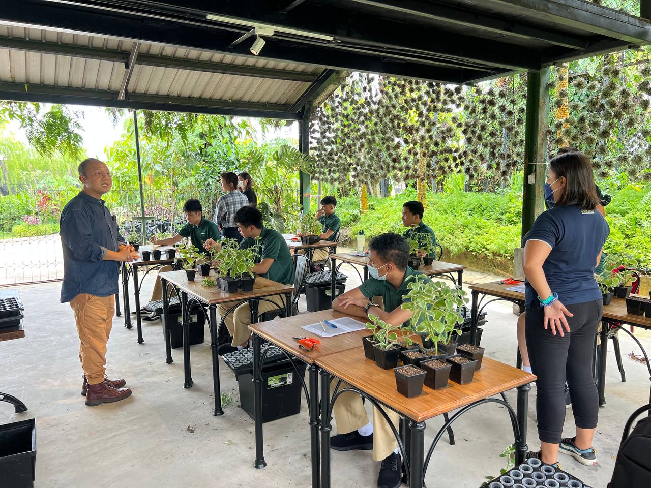
<path fill-rule="evenodd" d="M 461 334 L 459 326 L 464 318 L 457 309 L 467 303 L 465 291 L 435 282 L 425 275 L 413 275 L 407 285 L 409 292 L 402 304 L 404 310 L 411 311 L 411 325 L 419 334 L 437 343 L 449 344 L 455 334 Z"/>

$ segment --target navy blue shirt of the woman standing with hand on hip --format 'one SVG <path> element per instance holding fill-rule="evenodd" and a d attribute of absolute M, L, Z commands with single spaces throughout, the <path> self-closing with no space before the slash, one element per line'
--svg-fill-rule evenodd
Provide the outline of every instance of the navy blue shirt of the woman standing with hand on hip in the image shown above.
<path fill-rule="evenodd" d="M 609 233 L 601 213 L 572 204 L 555 206 L 538 215 L 524 240 L 542 241 L 551 247 L 542 265 L 547 283 L 564 305 L 572 305 L 602 298 L 594 280 L 594 267 Z M 540 306 L 536 290 L 528 281 L 525 286 L 527 308 Z"/>

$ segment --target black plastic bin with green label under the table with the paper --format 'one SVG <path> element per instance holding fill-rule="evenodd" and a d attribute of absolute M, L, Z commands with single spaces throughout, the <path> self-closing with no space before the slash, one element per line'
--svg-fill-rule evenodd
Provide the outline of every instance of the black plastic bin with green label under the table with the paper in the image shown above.
<path fill-rule="evenodd" d="M 305 363 L 298 364 L 301 378 L 305 378 Z M 301 378 L 289 360 L 262 367 L 262 422 L 301 413 Z M 253 417 L 253 372 L 238 375 L 240 405 Z"/>

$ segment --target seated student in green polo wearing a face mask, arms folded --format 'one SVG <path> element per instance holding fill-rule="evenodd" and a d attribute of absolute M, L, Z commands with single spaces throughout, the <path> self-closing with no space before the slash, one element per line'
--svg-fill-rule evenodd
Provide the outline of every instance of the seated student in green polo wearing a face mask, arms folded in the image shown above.
<path fill-rule="evenodd" d="M 370 278 L 361 286 L 346 291 L 335 299 L 332 308 L 366 321 L 374 315 L 391 325 L 408 325 L 411 311 L 401 305 L 408 293 L 407 285 L 413 275 L 422 275 L 411 269 L 409 260 L 409 243 L 398 234 L 381 234 L 371 239 L 368 244 L 368 273 Z M 380 296 L 382 308 L 371 300 Z M 331 385 L 331 392 L 336 382 Z M 344 388 L 342 385 L 340 388 Z M 398 429 L 398 414 L 385 410 L 393 425 Z M 402 477 L 402 461 L 398 454 L 398 444 L 391 427 L 382 414 L 373 409 L 373 424 L 361 397 L 353 393 L 344 393 L 333 406 L 338 435 L 331 439 L 331 447 L 337 451 L 372 450 L 373 459 L 381 461 L 378 487 L 396 488 Z"/>

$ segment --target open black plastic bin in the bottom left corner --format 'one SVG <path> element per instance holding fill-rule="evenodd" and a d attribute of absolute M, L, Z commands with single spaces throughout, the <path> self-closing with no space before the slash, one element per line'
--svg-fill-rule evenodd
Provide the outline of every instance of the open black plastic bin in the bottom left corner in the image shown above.
<path fill-rule="evenodd" d="M 35 468 L 35 419 L 0 426 L 0 486 L 33 488 Z"/>

